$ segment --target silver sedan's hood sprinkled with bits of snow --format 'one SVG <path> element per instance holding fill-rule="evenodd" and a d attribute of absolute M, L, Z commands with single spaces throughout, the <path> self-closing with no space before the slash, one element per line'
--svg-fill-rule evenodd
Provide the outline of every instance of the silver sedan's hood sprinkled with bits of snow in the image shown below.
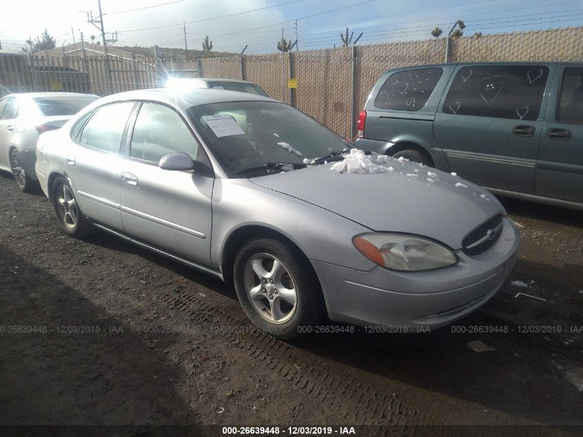
<path fill-rule="evenodd" d="M 330 169 L 332 165 L 250 181 L 373 231 L 424 235 L 453 249 L 460 249 L 464 236 L 493 215 L 506 214 L 488 191 L 435 168 L 393 158 L 382 164 L 387 167 L 384 173 L 339 173 Z"/>

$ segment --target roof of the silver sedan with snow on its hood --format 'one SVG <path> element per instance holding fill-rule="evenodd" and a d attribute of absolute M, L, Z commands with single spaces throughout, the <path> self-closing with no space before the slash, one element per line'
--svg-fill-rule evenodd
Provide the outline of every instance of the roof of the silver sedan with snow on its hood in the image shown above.
<path fill-rule="evenodd" d="M 239 93 L 239 91 L 217 90 L 208 88 L 150 88 L 147 90 L 126 91 L 103 97 L 91 106 L 101 106 L 113 101 L 151 100 L 160 101 L 171 106 L 188 109 L 190 106 L 199 106 L 224 101 L 277 101 L 261 95 Z"/>

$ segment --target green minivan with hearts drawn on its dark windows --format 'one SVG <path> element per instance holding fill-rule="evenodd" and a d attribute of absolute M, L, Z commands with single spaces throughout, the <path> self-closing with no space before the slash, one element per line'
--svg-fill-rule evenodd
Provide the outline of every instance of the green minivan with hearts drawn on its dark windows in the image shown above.
<path fill-rule="evenodd" d="M 457 173 L 495 194 L 583 210 L 583 63 L 386 72 L 356 146 Z"/>

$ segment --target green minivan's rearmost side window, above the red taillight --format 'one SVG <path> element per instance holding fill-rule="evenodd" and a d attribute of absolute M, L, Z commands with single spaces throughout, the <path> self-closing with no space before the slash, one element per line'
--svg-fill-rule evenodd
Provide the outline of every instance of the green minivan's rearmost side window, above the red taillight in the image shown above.
<path fill-rule="evenodd" d="M 419 110 L 427 103 L 443 73 L 443 68 L 395 72 L 379 90 L 375 106 L 382 109 Z"/>

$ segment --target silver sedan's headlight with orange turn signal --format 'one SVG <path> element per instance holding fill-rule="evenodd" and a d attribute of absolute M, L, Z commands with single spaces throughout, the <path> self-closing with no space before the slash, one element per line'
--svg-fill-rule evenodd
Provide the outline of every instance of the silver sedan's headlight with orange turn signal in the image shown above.
<path fill-rule="evenodd" d="M 375 264 L 400 271 L 440 269 L 458 261 L 451 249 L 416 235 L 367 233 L 353 237 L 353 244 Z"/>

